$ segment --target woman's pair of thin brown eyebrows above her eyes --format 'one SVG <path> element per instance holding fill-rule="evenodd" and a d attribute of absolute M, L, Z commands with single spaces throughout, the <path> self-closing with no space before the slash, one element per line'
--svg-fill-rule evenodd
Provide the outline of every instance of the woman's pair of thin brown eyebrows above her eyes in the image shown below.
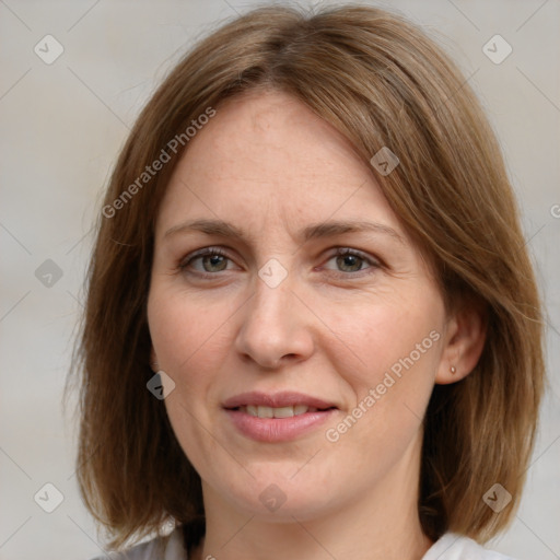
<path fill-rule="evenodd" d="M 179 223 L 170 228 L 164 238 L 170 235 L 177 233 L 194 233 L 202 232 L 207 235 L 218 235 L 222 237 L 233 237 L 235 240 L 252 240 L 252 236 L 245 233 L 241 228 L 224 222 L 222 220 L 191 220 Z M 388 235 L 406 245 L 405 240 L 399 235 L 393 228 L 388 225 L 376 223 L 376 222 L 363 222 L 363 221 L 330 221 L 311 224 L 303 229 L 298 237 L 302 242 L 308 242 L 312 240 L 335 237 L 337 235 L 343 235 L 347 233 L 364 233 L 372 232 L 383 235 Z"/>

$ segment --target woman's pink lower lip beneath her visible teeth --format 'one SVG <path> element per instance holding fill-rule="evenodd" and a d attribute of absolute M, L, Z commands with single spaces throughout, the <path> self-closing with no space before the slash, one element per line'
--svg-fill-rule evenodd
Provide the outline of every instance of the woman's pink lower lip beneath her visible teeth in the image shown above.
<path fill-rule="evenodd" d="M 225 410 L 235 428 L 257 442 L 288 442 L 313 430 L 327 421 L 336 409 L 320 412 L 305 412 L 290 418 L 258 418 L 241 410 Z"/>

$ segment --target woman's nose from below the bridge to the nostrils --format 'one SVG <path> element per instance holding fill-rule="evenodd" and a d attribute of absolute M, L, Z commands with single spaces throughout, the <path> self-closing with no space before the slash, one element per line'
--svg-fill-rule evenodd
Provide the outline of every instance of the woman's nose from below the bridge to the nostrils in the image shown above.
<path fill-rule="evenodd" d="M 255 294 L 243 306 L 237 352 L 265 369 L 306 360 L 314 350 L 313 314 L 288 279 L 276 288 L 259 278 L 256 283 Z"/>

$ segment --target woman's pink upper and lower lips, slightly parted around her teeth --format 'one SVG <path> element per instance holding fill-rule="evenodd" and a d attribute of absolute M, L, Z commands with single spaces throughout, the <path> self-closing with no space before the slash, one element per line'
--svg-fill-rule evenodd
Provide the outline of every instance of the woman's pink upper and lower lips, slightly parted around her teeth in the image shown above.
<path fill-rule="evenodd" d="M 238 407 L 249 405 L 273 408 L 306 405 L 323 410 L 304 412 L 290 418 L 258 418 L 238 410 Z M 243 393 L 225 400 L 223 408 L 232 424 L 241 434 L 265 443 L 288 442 L 303 436 L 316 430 L 338 410 L 338 407 L 334 404 L 292 392 L 273 395 L 258 392 Z"/>

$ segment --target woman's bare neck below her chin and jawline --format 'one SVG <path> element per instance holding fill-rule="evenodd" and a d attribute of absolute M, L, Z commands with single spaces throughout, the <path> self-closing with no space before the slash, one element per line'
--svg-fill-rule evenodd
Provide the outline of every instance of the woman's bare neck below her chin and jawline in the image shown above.
<path fill-rule="evenodd" d="M 298 515 L 264 521 L 233 509 L 203 485 L 206 537 L 191 560 L 420 560 L 432 545 L 418 517 L 420 445 L 420 439 L 411 444 L 371 491 L 305 521 Z"/>

